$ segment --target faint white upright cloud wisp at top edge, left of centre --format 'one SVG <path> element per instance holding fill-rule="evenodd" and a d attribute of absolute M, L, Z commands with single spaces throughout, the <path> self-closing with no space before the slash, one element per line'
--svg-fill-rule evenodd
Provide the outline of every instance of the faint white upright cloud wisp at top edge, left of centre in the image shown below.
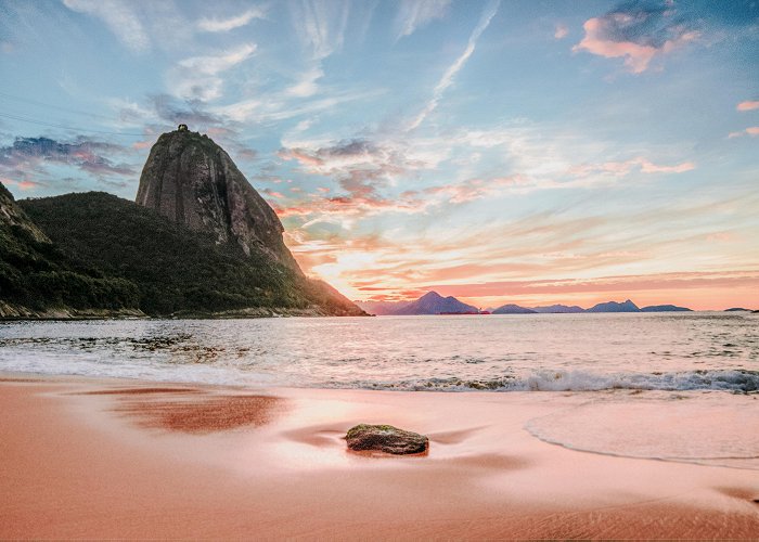
<path fill-rule="evenodd" d="M 291 0 L 295 33 L 311 60 L 326 59 L 343 47 L 348 25 L 348 0 Z"/>

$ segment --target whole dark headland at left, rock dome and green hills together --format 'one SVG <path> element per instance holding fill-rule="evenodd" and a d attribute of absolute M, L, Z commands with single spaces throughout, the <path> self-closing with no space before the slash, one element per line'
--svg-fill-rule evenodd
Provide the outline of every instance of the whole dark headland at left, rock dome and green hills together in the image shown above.
<path fill-rule="evenodd" d="M 206 136 L 162 134 L 137 203 L 0 184 L 0 318 L 365 315 L 307 278 L 276 214 Z"/>

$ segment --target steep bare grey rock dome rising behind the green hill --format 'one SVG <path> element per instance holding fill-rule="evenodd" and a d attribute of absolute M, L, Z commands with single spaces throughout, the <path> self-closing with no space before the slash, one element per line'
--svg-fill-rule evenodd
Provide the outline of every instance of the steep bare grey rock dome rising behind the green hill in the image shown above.
<path fill-rule="evenodd" d="M 137 203 L 211 232 L 218 243 L 236 242 L 248 256 L 263 254 L 301 272 L 274 210 L 206 136 L 186 129 L 160 136 L 142 169 Z"/>

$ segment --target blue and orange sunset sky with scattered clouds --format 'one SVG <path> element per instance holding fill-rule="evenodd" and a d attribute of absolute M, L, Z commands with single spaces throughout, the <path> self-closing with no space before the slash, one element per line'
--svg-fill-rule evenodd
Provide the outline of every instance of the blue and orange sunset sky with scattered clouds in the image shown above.
<path fill-rule="evenodd" d="M 759 1 L 0 0 L 0 182 L 185 122 L 351 299 L 759 308 Z"/>

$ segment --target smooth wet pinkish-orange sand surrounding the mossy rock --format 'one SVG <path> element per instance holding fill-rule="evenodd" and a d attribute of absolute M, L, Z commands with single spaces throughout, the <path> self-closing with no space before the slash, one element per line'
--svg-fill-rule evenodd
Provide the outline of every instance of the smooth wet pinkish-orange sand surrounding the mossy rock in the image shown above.
<path fill-rule="evenodd" d="M 574 451 L 525 430 L 587 397 L 0 374 L 0 538 L 757 535 L 758 470 Z M 430 452 L 350 454 L 342 436 L 361 422 L 424 433 Z"/>

